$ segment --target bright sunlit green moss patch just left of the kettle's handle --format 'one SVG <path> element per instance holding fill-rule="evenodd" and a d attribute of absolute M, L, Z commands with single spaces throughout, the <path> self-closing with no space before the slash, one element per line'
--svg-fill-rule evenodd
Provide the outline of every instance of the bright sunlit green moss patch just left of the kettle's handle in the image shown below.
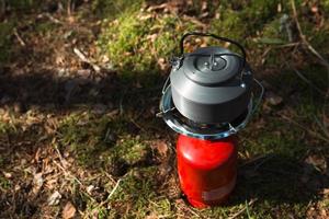
<path fill-rule="evenodd" d="M 159 59 L 174 54 L 179 37 L 175 33 L 194 27 L 174 14 L 137 10 L 105 24 L 99 45 L 112 64 L 124 72 L 149 73 L 150 69 L 159 69 Z"/>

